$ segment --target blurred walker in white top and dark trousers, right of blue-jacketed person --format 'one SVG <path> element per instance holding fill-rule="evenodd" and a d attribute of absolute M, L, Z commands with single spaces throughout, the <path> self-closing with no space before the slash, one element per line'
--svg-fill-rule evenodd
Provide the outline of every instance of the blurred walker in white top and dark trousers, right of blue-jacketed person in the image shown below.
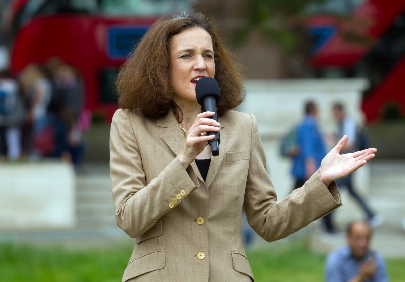
<path fill-rule="evenodd" d="M 336 140 L 339 140 L 344 135 L 347 135 L 349 138 L 347 144 L 342 149 L 342 152 L 351 153 L 367 148 L 368 142 L 365 132 L 356 125 L 351 116 L 346 114 L 343 104 L 335 103 L 332 106 L 332 112 L 338 124 L 338 131 L 335 134 L 333 142 L 336 142 Z M 347 191 L 357 201 L 363 212 L 366 214 L 372 228 L 376 228 L 383 222 L 383 217 L 380 214 L 375 214 L 367 205 L 366 201 L 355 190 L 353 185 L 353 175 L 350 174 L 345 178 L 341 178 L 337 180 L 336 183 L 339 188 L 347 188 Z M 337 232 L 337 228 L 333 222 L 333 214 L 334 213 L 330 213 L 323 218 L 325 226 L 327 227 L 327 232 L 330 233 Z"/>

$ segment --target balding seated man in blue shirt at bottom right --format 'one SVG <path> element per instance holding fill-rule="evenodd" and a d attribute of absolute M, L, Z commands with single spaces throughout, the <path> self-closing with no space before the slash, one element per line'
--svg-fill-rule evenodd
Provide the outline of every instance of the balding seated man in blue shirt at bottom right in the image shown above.
<path fill-rule="evenodd" d="M 369 249 L 371 228 L 354 221 L 347 228 L 347 245 L 331 252 L 326 261 L 327 282 L 386 282 L 383 258 Z"/>

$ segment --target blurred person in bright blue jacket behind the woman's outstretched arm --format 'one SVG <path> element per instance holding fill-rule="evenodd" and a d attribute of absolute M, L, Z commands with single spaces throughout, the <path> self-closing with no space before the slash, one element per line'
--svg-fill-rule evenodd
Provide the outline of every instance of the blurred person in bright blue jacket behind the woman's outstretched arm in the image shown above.
<path fill-rule="evenodd" d="M 291 173 L 295 178 L 294 189 L 302 187 L 304 183 L 319 169 L 325 157 L 325 143 L 319 129 L 318 109 L 313 101 L 305 103 L 305 117 L 298 125 L 296 142 L 298 153 L 293 156 Z"/>

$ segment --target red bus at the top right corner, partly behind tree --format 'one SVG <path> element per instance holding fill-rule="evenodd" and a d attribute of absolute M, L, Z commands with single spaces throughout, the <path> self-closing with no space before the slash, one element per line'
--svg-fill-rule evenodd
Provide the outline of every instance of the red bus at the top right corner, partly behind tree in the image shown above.
<path fill-rule="evenodd" d="M 345 17 L 309 20 L 308 28 L 317 37 L 310 61 L 319 77 L 327 77 L 328 69 L 334 75 L 338 70 L 344 77 L 366 77 L 371 85 L 362 109 L 368 122 L 382 118 L 390 105 L 405 116 L 405 0 L 332 2 L 334 10 L 347 3 L 353 9 Z"/>

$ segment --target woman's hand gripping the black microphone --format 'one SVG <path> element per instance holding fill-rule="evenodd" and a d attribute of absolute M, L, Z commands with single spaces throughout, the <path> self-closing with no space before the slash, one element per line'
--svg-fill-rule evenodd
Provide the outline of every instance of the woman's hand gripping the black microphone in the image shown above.
<path fill-rule="evenodd" d="M 215 135 L 207 136 L 206 132 L 218 132 L 220 130 L 220 124 L 214 119 L 208 118 L 214 115 L 215 113 L 211 111 L 198 114 L 188 130 L 186 142 L 184 142 L 179 155 L 180 163 L 184 168 L 194 162 L 196 156 L 204 150 L 208 141 L 215 138 Z"/>

